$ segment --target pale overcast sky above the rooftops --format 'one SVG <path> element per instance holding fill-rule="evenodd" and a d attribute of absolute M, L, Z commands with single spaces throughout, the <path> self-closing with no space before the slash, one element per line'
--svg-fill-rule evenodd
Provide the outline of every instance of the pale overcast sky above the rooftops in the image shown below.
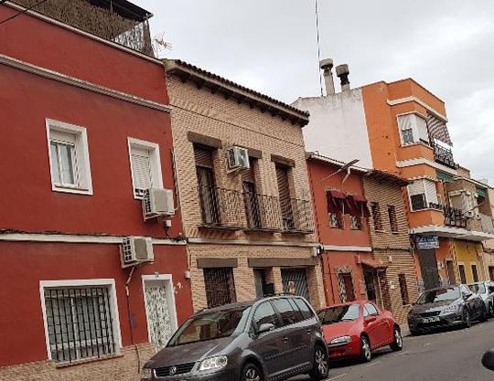
<path fill-rule="evenodd" d="M 135 0 L 180 58 L 276 99 L 320 92 L 314 0 Z M 412 77 L 443 101 L 456 161 L 494 184 L 494 1 L 319 0 L 321 56 L 352 86 Z"/>

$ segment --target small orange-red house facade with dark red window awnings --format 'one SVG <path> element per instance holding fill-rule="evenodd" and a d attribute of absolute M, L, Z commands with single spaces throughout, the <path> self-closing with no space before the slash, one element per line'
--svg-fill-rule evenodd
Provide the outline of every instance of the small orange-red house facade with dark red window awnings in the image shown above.
<path fill-rule="evenodd" d="M 307 156 L 328 305 L 368 299 L 364 270 L 375 265 L 362 185 L 367 171 L 338 172 L 342 165 L 315 153 Z"/>

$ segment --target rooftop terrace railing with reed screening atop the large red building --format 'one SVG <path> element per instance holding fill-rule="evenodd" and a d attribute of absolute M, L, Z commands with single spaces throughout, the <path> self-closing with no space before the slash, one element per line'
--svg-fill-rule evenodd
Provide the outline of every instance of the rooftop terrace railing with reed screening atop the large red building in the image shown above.
<path fill-rule="evenodd" d="M 153 55 L 148 19 L 150 12 L 127 0 L 16 0 L 43 15 L 75 26 L 92 35 L 108 39 L 127 48 Z"/>

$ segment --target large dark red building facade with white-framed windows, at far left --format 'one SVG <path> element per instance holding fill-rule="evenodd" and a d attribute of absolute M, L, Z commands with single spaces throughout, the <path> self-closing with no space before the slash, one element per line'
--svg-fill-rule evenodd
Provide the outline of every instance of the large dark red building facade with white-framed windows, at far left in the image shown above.
<path fill-rule="evenodd" d="M 0 380 L 135 377 L 192 312 L 180 211 L 143 218 L 175 189 L 161 62 L 30 13 L 0 26 L 0 83 Z M 126 237 L 154 262 L 123 269 Z"/>

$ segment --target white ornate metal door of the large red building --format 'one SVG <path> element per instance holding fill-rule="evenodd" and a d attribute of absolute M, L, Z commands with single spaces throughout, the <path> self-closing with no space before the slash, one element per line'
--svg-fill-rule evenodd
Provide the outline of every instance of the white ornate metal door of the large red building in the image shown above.
<path fill-rule="evenodd" d="M 152 285 L 151 285 L 152 284 Z M 166 299 L 166 285 L 145 284 L 145 312 L 151 343 L 156 352 L 164 348 L 173 333 L 173 323 Z"/>

